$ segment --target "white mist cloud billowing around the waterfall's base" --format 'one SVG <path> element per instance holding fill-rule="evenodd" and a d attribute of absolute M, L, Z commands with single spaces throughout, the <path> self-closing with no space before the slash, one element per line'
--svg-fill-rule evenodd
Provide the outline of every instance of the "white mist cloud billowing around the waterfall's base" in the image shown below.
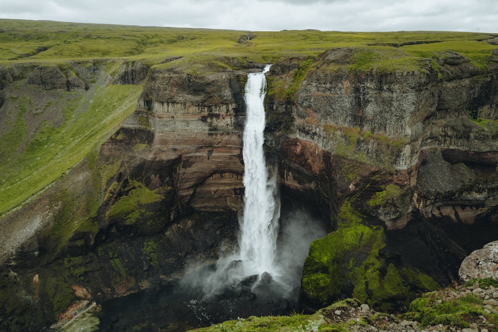
<path fill-rule="evenodd" d="M 216 265 L 191 267 L 181 280 L 181 287 L 191 297 L 205 302 L 242 296 L 262 297 L 277 302 L 285 300 L 286 306 L 294 309 L 309 245 L 327 232 L 321 222 L 304 211 L 295 212 L 280 222 L 273 274 L 264 269 L 260 269 L 259 274 L 254 273 L 232 247 L 225 247 Z"/>

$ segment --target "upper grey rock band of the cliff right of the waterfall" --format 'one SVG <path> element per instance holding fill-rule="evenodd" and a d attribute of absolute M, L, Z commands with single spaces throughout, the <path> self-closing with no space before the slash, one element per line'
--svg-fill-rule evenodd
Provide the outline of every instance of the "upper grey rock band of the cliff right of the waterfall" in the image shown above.
<path fill-rule="evenodd" d="M 480 130 L 471 120 L 497 119 L 498 85 L 493 70 L 484 72 L 451 52 L 434 60 L 440 63 L 438 72 L 429 63 L 422 71 L 413 72 L 328 69 L 331 64 L 351 63 L 354 51 L 332 49 L 308 65 L 294 96 L 300 137 L 333 153 L 342 151 L 340 141 L 330 139 L 331 134 L 342 128 L 404 139 L 402 152 L 395 160 L 386 161 L 397 169 L 415 165 L 418 154 L 429 148 L 490 150 L 494 132 Z M 371 155 L 378 150 L 377 142 L 365 141 L 354 149 L 356 154 Z"/>

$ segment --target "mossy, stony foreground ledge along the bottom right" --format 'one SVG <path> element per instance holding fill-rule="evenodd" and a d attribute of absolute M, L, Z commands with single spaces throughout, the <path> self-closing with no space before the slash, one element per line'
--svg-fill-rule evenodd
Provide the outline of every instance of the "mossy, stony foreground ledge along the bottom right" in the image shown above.
<path fill-rule="evenodd" d="M 387 272 L 390 273 L 392 272 Z M 486 280 L 475 282 L 482 289 L 492 286 L 487 285 Z M 495 280 L 494 284 L 496 283 Z M 472 292 L 476 287 L 463 288 L 461 285 L 454 285 L 446 290 L 426 293 L 411 303 L 408 312 L 395 315 L 371 310 L 361 311 L 361 301 L 346 299 L 320 309 L 313 315 L 239 318 L 192 331 L 405 331 L 411 330 L 410 325 L 417 324 L 418 328 L 414 329 L 417 331 L 459 331 L 465 328 L 497 331 L 497 306 L 486 304 L 484 293 Z M 496 301 L 489 300 L 488 303 Z"/>

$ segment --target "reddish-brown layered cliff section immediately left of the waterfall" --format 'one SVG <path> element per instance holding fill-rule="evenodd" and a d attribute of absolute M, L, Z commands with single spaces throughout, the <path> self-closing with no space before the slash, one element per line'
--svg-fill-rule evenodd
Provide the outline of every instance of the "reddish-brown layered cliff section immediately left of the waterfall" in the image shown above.
<path fill-rule="evenodd" d="M 155 70 L 137 111 L 102 148 L 102 162 L 124 159 L 123 179 L 140 176 L 151 189 L 173 190 L 170 218 L 188 209 L 237 211 L 244 171 L 242 75 Z M 129 150 L 135 142 L 140 148 Z"/>

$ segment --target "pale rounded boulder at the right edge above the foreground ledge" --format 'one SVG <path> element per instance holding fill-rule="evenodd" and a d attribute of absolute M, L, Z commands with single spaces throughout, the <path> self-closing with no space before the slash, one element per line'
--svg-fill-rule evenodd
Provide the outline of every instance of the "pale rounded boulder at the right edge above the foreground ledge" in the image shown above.
<path fill-rule="evenodd" d="M 458 275 L 464 281 L 486 278 L 498 280 L 498 241 L 490 242 L 465 257 Z"/>

